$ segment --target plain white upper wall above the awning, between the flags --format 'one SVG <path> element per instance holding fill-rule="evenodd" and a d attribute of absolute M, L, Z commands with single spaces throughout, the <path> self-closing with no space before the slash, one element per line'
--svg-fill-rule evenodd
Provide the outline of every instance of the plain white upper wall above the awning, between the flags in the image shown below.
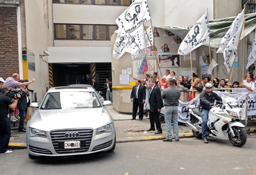
<path fill-rule="evenodd" d="M 207 11 L 213 19 L 213 0 L 165 0 L 165 26 L 193 26 Z"/>

